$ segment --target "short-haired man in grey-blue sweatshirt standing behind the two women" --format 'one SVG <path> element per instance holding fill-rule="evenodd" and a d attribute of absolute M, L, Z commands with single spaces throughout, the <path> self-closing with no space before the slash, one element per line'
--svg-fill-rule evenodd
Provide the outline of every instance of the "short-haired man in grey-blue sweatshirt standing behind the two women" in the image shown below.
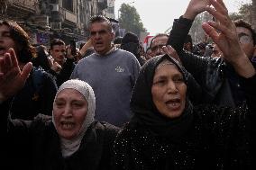
<path fill-rule="evenodd" d="M 96 95 L 96 120 L 121 127 L 130 120 L 130 97 L 140 64 L 130 52 L 117 49 L 111 22 L 97 15 L 89 21 L 90 40 L 95 53 L 81 59 L 70 78 L 92 86 Z"/>

